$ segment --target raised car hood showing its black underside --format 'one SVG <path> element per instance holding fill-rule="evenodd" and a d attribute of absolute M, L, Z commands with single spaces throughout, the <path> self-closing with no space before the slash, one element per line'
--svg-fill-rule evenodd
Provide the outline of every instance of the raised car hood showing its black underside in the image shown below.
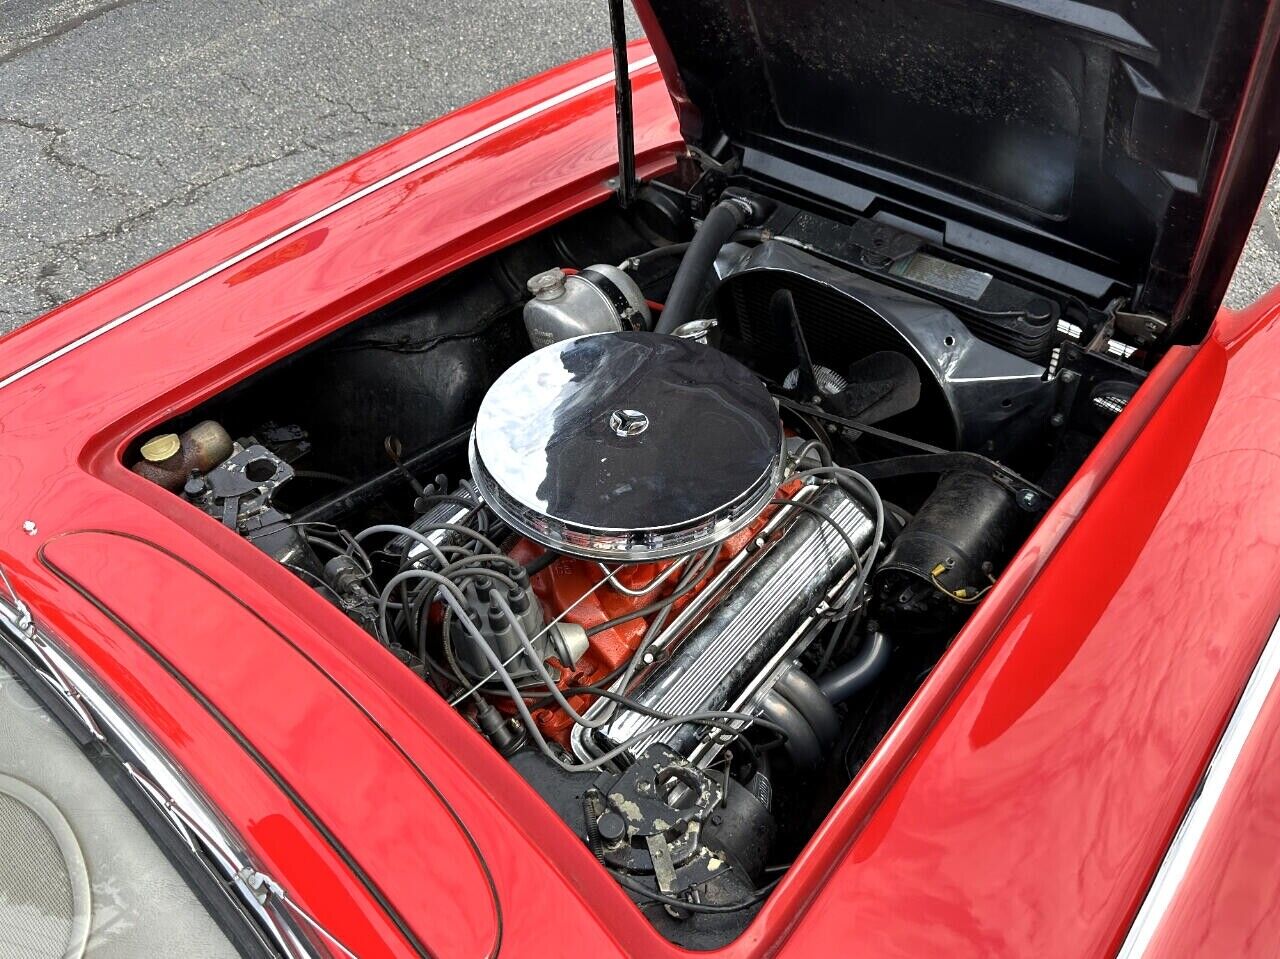
<path fill-rule="evenodd" d="M 1268 0 L 636 6 L 691 145 L 1121 294 L 1139 338 L 1203 333 L 1280 145 Z"/>

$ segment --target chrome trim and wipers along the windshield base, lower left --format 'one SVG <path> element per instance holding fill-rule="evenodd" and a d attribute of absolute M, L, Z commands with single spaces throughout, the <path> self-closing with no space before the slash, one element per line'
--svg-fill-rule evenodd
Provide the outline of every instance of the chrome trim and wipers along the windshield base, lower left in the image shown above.
<path fill-rule="evenodd" d="M 97 681 L 32 625 L 20 600 L 15 606 L 0 598 L 0 641 L 5 640 L 67 702 L 95 740 L 111 744 L 124 771 L 156 805 L 183 845 L 193 853 L 202 853 L 216 874 L 236 889 L 246 912 L 255 915 L 262 932 L 282 955 L 288 959 L 316 956 L 315 947 L 287 919 L 285 909 L 298 914 L 333 945 L 352 955 L 312 917 L 302 913 L 279 883 L 259 871 L 207 800 L 196 793 L 150 735 L 99 688 Z M 255 877 L 268 881 L 273 892 L 278 890 L 274 898 L 262 892 L 262 882 L 253 881 Z"/>

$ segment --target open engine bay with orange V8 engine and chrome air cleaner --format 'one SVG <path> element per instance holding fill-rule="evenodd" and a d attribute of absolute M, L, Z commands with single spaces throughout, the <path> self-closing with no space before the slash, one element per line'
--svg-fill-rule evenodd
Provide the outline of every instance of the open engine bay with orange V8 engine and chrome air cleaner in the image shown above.
<path fill-rule="evenodd" d="M 384 645 L 709 949 L 1140 385 L 1124 292 L 678 170 L 128 461 Z"/>

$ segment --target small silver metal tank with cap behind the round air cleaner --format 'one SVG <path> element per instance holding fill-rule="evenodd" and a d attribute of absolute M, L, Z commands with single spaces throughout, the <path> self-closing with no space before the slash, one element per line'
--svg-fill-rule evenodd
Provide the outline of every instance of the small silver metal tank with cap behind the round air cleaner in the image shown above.
<path fill-rule="evenodd" d="M 644 292 L 617 266 L 595 264 L 576 273 L 547 270 L 526 284 L 525 329 L 535 350 L 585 333 L 646 330 L 652 324 Z"/>

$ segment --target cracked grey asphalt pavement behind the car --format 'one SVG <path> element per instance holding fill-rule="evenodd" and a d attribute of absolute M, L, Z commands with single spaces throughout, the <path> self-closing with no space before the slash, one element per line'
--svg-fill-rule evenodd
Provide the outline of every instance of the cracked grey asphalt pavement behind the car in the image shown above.
<path fill-rule="evenodd" d="M 0 0 L 0 332 L 607 41 L 604 0 Z M 1233 305 L 1277 224 L 1274 177 Z"/>

